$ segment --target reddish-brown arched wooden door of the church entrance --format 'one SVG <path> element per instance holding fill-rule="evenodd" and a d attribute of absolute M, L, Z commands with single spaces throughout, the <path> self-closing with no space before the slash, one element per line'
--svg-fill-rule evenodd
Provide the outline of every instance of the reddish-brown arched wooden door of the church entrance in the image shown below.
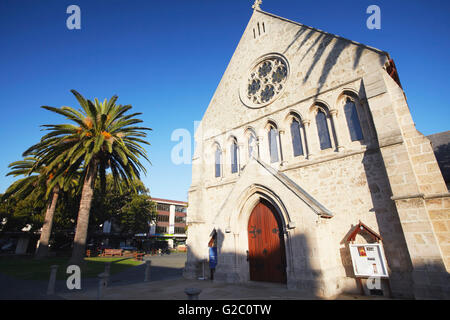
<path fill-rule="evenodd" d="M 261 201 L 248 221 L 250 280 L 286 283 L 286 256 L 275 209 Z"/>

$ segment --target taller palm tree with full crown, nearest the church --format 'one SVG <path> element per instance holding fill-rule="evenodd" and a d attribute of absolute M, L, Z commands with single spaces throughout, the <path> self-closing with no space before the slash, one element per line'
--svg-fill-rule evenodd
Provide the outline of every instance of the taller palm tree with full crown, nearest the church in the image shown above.
<path fill-rule="evenodd" d="M 44 125 L 50 131 L 41 141 L 28 149 L 24 155 L 35 152 L 42 161 L 55 169 L 55 176 L 72 175 L 79 168 L 83 169 L 82 191 L 78 211 L 72 258 L 69 263 L 80 265 L 83 262 L 87 239 L 89 213 L 94 194 L 94 185 L 100 177 L 102 189 L 106 184 L 106 169 L 111 171 L 114 185 L 121 190 L 120 181 L 129 187 L 140 179 L 140 171 L 146 172 L 139 161 L 147 161 L 147 153 L 140 144 L 149 144 L 143 140 L 150 128 L 135 126 L 143 122 L 135 118 L 141 113 L 125 113 L 131 105 L 116 105 L 117 96 L 103 103 L 86 100 L 75 90 L 80 110 L 71 107 L 42 108 L 58 113 L 75 124 Z"/>

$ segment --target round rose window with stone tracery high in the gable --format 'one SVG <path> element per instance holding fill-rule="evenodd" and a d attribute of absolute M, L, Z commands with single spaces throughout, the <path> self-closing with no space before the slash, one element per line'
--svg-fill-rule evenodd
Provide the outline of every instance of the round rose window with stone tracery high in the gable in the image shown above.
<path fill-rule="evenodd" d="M 249 107 L 264 107 L 274 101 L 283 91 L 289 68 L 286 59 L 269 55 L 260 59 L 251 69 L 241 98 Z"/>

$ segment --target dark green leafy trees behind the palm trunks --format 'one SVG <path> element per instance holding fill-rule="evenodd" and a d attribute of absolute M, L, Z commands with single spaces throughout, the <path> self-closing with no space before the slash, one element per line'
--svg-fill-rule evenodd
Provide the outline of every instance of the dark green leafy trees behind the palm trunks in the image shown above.
<path fill-rule="evenodd" d="M 21 231 L 31 225 L 30 231 L 39 230 L 44 222 L 46 201 L 39 194 L 27 197 L 11 196 L 0 202 L 0 232 Z M 78 213 L 80 195 L 62 193 L 54 216 L 54 232 L 73 231 Z M 119 191 L 111 175 L 106 176 L 106 188 L 98 181 L 94 189 L 90 231 L 100 231 L 100 225 L 113 219 L 123 233 L 148 232 L 148 222 L 156 218 L 156 204 L 151 201 L 148 189 L 142 181 L 134 187 L 124 185 Z M 6 223 L 2 224 L 3 219 Z"/>

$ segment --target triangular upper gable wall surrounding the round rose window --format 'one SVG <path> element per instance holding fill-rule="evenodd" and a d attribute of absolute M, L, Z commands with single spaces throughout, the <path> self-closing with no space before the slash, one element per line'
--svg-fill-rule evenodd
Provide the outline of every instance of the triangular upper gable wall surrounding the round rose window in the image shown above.
<path fill-rule="evenodd" d="M 254 37 L 253 29 L 263 22 L 265 32 Z M 281 54 L 289 63 L 285 90 L 264 108 L 247 108 L 239 96 L 240 86 L 249 77 L 252 64 L 268 53 Z M 203 138 L 360 79 L 386 61 L 382 51 L 255 11 L 202 119 Z"/>

